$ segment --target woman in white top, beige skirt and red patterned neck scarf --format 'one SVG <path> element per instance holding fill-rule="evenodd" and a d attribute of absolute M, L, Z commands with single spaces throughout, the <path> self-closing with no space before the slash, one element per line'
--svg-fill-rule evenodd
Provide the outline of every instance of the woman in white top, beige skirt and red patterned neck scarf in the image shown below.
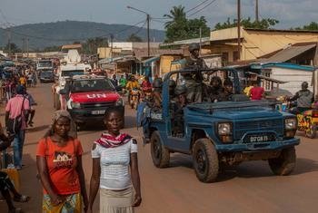
<path fill-rule="evenodd" d="M 120 132 L 123 116 L 118 108 L 109 108 L 105 112 L 104 124 L 108 132 L 94 141 L 92 150 L 88 212 L 92 212 L 98 187 L 100 212 L 134 212 L 134 207 L 142 202 L 136 140 Z"/>

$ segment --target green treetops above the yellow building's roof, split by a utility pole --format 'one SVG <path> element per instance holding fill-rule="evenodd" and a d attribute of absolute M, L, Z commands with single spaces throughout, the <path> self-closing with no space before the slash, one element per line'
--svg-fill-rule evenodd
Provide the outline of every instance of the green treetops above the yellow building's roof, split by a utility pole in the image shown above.
<path fill-rule="evenodd" d="M 273 18 L 263 18 L 260 21 L 252 21 L 251 17 L 243 18 L 241 20 L 241 25 L 245 28 L 254 28 L 254 29 L 270 29 L 275 24 L 278 24 L 279 21 Z M 214 30 L 222 30 L 226 28 L 231 28 L 237 26 L 237 19 L 234 19 L 233 22 L 230 18 L 227 18 L 224 23 L 217 23 L 214 26 Z"/>

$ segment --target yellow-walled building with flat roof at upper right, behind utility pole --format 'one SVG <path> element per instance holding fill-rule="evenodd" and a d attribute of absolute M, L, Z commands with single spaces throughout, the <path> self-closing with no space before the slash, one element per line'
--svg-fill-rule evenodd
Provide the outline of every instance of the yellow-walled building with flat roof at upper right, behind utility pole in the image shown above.
<path fill-rule="evenodd" d="M 225 64 L 254 60 L 296 43 L 318 43 L 318 31 L 241 28 L 239 58 L 237 33 L 237 28 L 233 27 L 212 31 L 210 34 L 211 53 L 221 53 Z"/>

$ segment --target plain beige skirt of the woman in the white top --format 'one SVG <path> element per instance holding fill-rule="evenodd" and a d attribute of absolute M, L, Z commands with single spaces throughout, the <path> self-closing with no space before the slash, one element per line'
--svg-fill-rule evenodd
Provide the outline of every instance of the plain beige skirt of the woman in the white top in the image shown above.
<path fill-rule="evenodd" d="M 100 189 L 100 213 L 134 213 L 134 189 L 120 191 Z"/>

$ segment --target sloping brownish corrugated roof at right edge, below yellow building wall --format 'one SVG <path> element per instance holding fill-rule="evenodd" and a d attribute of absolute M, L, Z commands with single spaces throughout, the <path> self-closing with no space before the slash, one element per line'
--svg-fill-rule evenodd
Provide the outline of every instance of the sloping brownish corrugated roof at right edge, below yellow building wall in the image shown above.
<path fill-rule="evenodd" d="M 300 55 L 301 53 L 304 53 L 315 46 L 316 44 L 303 45 L 303 46 L 289 46 L 286 49 L 283 49 L 282 51 L 275 53 L 273 56 L 269 57 L 268 59 L 264 61 L 278 62 L 278 63 L 287 62 L 288 60 L 291 60 L 297 55 Z"/>

